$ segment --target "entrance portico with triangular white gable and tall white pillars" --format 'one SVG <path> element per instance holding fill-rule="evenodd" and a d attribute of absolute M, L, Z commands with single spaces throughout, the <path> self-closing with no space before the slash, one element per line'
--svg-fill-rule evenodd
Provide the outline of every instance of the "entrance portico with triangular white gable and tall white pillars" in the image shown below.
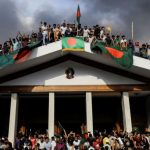
<path fill-rule="evenodd" d="M 106 97 L 109 94 L 119 93 L 118 102 L 120 105 L 118 106 L 121 106 L 123 118 L 120 121 L 121 126 L 123 122 L 123 129 L 128 132 L 132 131 L 132 126 L 134 126 L 132 120 L 134 118 L 132 117 L 132 108 L 130 107 L 130 92 L 150 91 L 150 70 L 148 68 L 150 63 L 147 60 L 135 57 L 133 67 L 125 69 L 118 66 L 112 60 L 106 59 L 106 57 L 93 54 L 89 46 L 85 45 L 86 50 L 82 53 L 62 53 L 61 43 L 55 42 L 52 45 L 33 50 L 30 58 L 24 63 L 0 69 L 0 92 L 11 94 L 8 137 L 13 144 L 16 136 L 18 101 L 21 103 L 20 95 L 26 93 L 28 95 L 46 93 L 47 107 L 43 109 L 46 109 L 46 112 L 48 112 L 46 127 L 49 136 L 54 135 L 57 94 L 63 93 L 65 95 L 69 93 L 71 97 L 72 92 L 82 92 L 84 95 L 83 107 L 85 112 L 82 115 L 84 115 L 85 120 L 83 119 L 82 121 L 86 124 L 87 131 L 91 133 L 94 131 L 93 126 L 95 122 L 93 117 L 95 93 L 105 93 Z M 66 77 L 66 69 L 68 67 L 74 70 L 74 76 L 71 79 Z M 99 97 L 99 105 L 104 100 Z M 113 100 L 115 101 L 114 97 L 111 98 L 111 104 Z M 109 105 L 109 100 L 106 104 Z M 78 109 L 78 107 L 76 108 Z M 108 116 L 106 117 L 108 119 Z M 118 119 L 120 118 L 119 116 Z M 101 118 L 98 119 L 100 120 Z M 108 124 L 110 123 L 109 119 Z M 97 123 L 99 125 L 100 121 L 97 121 Z"/>

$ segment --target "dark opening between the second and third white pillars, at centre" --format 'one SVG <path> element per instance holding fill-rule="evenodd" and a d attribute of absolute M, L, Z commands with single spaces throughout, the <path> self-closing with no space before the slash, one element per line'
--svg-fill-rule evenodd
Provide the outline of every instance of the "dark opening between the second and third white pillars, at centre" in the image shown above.
<path fill-rule="evenodd" d="M 58 93 L 55 98 L 55 124 L 59 121 L 67 132 L 80 133 L 81 124 L 86 122 L 85 94 Z"/>

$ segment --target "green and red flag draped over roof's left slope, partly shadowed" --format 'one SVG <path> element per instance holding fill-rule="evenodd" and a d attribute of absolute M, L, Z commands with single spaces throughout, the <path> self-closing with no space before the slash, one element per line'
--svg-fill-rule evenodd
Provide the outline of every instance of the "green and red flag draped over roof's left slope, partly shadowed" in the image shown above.
<path fill-rule="evenodd" d="M 41 42 L 35 42 L 33 44 L 27 45 L 24 48 L 13 51 L 8 55 L 5 54 L 3 56 L 0 56 L 0 68 L 6 67 L 11 64 L 18 64 L 18 63 L 25 62 L 29 58 L 31 54 L 31 50 L 40 45 Z"/>

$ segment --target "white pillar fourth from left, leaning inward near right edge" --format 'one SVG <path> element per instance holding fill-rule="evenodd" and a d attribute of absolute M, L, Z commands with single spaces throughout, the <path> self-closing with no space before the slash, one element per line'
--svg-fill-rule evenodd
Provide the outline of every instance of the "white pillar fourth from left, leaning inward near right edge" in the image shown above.
<path fill-rule="evenodd" d="M 131 112 L 130 112 L 130 101 L 129 93 L 122 93 L 122 114 L 123 114 L 123 126 L 127 132 L 132 132 Z"/>

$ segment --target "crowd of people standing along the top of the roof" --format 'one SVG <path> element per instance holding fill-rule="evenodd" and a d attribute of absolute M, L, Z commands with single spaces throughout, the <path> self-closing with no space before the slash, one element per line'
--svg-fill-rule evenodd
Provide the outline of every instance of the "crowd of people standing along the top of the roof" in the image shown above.
<path fill-rule="evenodd" d="M 150 59 L 150 44 L 141 44 L 133 40 L 127 40 L 125 35 L 112 35 L 111 30 L 104 26 L 95 25 L 92 27 L 81 24 L 53 24 L 41 22 L 39 31 L 29 34 L 17 34 L 16 38 L 9 39 L 0 44 L 0 55 L 9 54 L 12 51 L 21 49 L 30 43 L 42 41 L 43 45 L 51 42 L 59 41 L 62 37 L 82 37 L 86 42 L 92 42 L 95 38 L 106 46 L 120 46 L 121 50 L 124 48 L 131 48 L 134 55 Z"/>

